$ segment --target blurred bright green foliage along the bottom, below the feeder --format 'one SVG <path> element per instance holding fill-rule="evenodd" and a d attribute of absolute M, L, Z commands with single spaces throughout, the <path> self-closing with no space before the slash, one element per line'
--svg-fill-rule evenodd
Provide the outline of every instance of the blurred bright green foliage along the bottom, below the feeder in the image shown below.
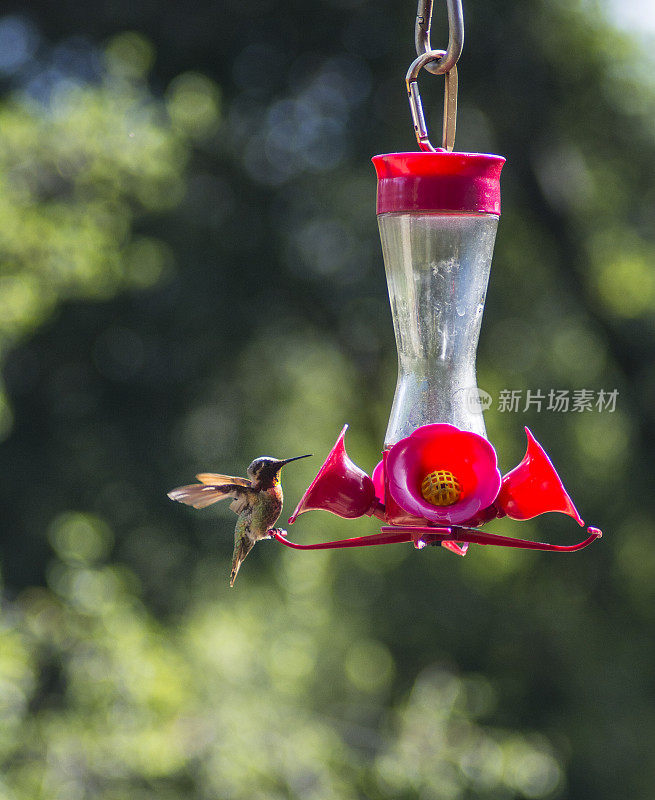
<path fill-rule="evenodd" d="M 0 631 L 3 796 L 543 797 L 561 782 L 543 737 L 476 722 L 494 702 L 480 676 L 421 674 L 381 737 L 393 659 L 339 619 L 327 561 L 238 605 L 198 597 L 164 627 L 132 573 L 95 561 L 104 522 L 66 515 L 51 540 L 52 589 L 26 590 Z"/>

